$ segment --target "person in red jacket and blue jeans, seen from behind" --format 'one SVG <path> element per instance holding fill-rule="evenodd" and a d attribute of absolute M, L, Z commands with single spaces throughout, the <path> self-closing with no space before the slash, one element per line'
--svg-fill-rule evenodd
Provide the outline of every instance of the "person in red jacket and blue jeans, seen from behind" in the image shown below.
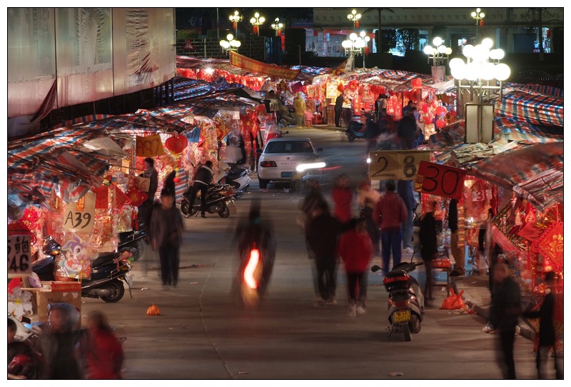
<path fill-rule="evenodd" d="M 390 251 L 393 251 L 393 267 L 400 263 L 402 256 L 403 237 L 400 234 L 400 226 L 406 220 L 408 210 L 405 202 L 396 192 L 394 180 L 385 183 L 387 189 L 384 196 L 377 201 L 373 210 L 373 220 L 380 228 L 380 249 L 383 256 L 383 271 L 388 273 Z"/>

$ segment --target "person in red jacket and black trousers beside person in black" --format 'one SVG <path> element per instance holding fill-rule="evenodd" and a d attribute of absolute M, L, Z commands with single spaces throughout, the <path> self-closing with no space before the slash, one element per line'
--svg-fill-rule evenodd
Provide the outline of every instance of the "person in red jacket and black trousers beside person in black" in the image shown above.
<path fill-rule="evenodd" d="M 340 238 L 338 253 L 343 260 L 347 275 L 349 316 L 355 317 L 357 313 L 365 313 L 367 271 L 373 259 L 373 243 L 367 232 L 365 218 L 356 218 L 352 222 L 353 228 L 343 233 Z"/>

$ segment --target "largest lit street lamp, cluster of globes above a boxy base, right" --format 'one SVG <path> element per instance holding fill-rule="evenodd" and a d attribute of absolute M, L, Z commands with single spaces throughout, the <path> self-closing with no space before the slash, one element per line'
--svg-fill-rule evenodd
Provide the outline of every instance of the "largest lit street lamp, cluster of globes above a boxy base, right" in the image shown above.
<path fill-rule="evenodd" d="M 500 63 L 504 51 L 491 49 L 493 45 L 492 39 L 489 38 L 482 40 L 482 43 L 476 46 L 468 44 L 463 49 L 466 62 L 460 58 L 450 60 L 450 73 L 458 81 L 458 113 L 462 111 L 461 91 L 463 89 L 470 91 L 470 103 L 464 104 L 463 109 L 464 142 L 467 144 L 492 141 L 494 104 L 490 101 L 495 98 L 492 93 L 499 91 L 501 101 L 502 82 L 510 76 L 510 67 Z"/>

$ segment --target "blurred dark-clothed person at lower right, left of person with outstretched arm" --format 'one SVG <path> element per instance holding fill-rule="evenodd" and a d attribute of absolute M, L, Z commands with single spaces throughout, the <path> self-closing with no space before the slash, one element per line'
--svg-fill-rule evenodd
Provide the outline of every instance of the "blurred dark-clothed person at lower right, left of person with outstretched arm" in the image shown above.
<path fill-rule="evenodd" d="M 497 333 L 497 363 L 505 379 L 515 379 L 513 348 L 515 327 L 521 316 L 520 286 L 510 275 L 505 259 L 497 261 L 494 268 L 494 291 L 490 308 L 490 323 Z"/>

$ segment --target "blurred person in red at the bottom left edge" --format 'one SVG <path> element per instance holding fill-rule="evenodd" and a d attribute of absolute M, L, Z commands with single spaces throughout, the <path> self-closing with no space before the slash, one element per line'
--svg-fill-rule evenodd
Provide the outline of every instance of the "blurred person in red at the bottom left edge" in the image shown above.
<path fill-rule="evenodd" d="M 86 361 L 86 378 L 122 379 L 123 347 L 106 316 L 100 311 L 89 313 L 87 331 L 81 350 Z"/>

